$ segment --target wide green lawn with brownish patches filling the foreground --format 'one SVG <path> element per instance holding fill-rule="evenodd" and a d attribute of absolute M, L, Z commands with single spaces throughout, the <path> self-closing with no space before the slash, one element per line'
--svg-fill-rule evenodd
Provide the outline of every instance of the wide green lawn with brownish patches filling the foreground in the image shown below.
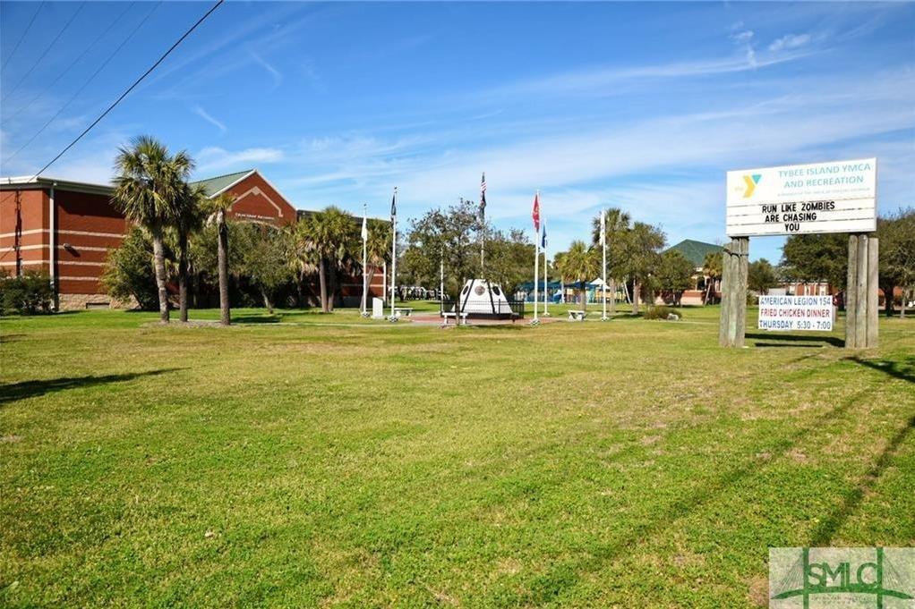
<path fill-rule="evenodd" d="M 0 604 L 760 606 L 915 542 L 915 320 L 234 315 L 0 321 Z"/>

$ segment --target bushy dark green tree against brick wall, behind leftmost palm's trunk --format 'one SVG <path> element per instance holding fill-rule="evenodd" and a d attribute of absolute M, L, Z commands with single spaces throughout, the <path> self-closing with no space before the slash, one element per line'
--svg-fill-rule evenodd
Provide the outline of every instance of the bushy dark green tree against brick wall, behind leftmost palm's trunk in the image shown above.
<path fill-rule="evenodd" d="M 105 292 L 121 301 L 134 298 L 145 311 L 156 309 L 156 271 L 153 268 L 153 242 L 144 229 L 134 227 L 121 245 L 108 251 L 102 271 Z"/>

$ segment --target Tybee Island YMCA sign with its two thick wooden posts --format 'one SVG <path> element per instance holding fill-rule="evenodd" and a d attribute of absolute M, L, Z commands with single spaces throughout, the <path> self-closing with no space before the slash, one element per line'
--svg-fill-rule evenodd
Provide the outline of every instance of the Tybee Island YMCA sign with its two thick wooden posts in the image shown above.
<path fill-rule="evenodd" d="M 749 238 L 847 232 L 845 347 L 877 347 L 877 159 L 727 172 L 718 344 L 743 347 Z"/>

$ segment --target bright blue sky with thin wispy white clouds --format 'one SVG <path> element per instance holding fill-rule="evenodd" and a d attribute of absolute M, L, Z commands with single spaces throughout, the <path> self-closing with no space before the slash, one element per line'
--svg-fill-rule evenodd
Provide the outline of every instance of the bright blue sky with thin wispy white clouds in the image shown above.
<path fill-rule="evenodd" d="M 2 3 L 4 176 L 43 166 L 209 7 L 80 6 L 41 6 L 11 56 L 38 4 Z M 727 169 L 877 156 L 879 209 L 915 205 L 915 4 L 231 2 L 46 175 L 107 181 L 134 134 L 201 177 L 257 166 L 298 208 L 384 216 L 396 185 L 418 216 L 477 200 L 486 171 L 499 227 L 529 228 L 541 190 L 551 255 L 603 205 L 720 242 Z"/>

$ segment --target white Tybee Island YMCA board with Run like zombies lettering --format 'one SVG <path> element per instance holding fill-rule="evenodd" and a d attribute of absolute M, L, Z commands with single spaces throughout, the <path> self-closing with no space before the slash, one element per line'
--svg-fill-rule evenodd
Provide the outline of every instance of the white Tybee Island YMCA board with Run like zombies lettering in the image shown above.
<path fill-rule="evenodd" d="M 877 159 L 727 172 L 727 236 L 877 230 Z"/>

